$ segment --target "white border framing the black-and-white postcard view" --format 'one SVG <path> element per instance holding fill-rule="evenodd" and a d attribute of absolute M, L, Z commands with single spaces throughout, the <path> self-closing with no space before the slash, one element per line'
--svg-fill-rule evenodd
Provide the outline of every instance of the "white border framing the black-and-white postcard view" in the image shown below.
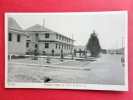
<path fill-rule="evenodd" d="M 71 83 L 14 83 L 8 82 L 8 15 L 97 15 L 125 14 L 125 85 L 71 84 Z M 5 13 L 5 88 L 43 88 L 128 91 L 128 11 L 66 12 L 66 13 Z"/>

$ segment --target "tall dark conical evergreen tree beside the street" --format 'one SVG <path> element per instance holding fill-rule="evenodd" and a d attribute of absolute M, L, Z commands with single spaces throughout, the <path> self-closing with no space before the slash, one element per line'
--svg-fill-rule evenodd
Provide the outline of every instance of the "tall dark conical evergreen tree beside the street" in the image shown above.
<path fill-rule="evenodd" d="M 86 49 L 90 51 L 92 57 L 97 57 L 100 54 L 101 46 L 95 31 L 93 31 L 93 33 L 91 34 L 86 45 Z"/>

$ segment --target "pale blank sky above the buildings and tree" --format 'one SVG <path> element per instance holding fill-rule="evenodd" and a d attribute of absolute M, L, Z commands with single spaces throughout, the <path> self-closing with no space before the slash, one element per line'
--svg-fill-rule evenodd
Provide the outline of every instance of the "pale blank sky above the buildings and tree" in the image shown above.
<path fill-rule="evenodd" d="M 98 34 L 103 49 L 116 49 L 122 47 L 125 40 L 125 14 L 38 14 L 38 15 L 8 15 L 12 17 L 22 29 L 36 24 L 58 32 L 75 40 L 74 45 L 85 46 L 93 33 Z M 124 43 L 123 43 L 124 45 Z"/>

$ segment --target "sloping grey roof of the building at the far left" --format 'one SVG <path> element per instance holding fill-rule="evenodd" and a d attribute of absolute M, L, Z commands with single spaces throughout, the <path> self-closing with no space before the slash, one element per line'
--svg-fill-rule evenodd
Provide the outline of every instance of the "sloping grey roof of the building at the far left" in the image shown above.
<path fill-rule="evenodd" d="M 17 22 L 12 17 L 8 17 L 8 29 L 23 31 L 23 29 L 17 24 Z"/>

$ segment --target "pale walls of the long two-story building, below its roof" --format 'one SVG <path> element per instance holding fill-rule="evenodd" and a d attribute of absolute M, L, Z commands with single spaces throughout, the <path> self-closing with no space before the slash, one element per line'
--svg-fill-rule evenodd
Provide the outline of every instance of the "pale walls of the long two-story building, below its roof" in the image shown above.
<path fill-rule="evenodd" d="M 52 49 L 54 50 L 55 54 L 60 54 L 61 49 L 62 49 L 62 45 L 63 45 L 63 53 L 66 53 L 66 54 L 71 53 L 72 40 L 69 42 L 69 41 L 65 41 L 65 39 L 62 40 L 62 38 L 59 39 L 59 37 L 57 39 L 56 38 L 56 33 L 52 33 L 52 34 L 49 33 L 49 38 L 45 38 L 45 33 L 43 33 L 43 32 L 39 33 L 38 32 L 39 40 L 50 40 L 50 41 L 51 40 L 53 40 L 53 41 L 56 40 L 58 42 L 37 42 L 36 41 L 36 35 L 35 35 L 36 33 L 37 32 L 30 32 L 29 38 L 26 38 L 27 40 L 30 40 L 29 47 L 26 48 L 27 51 L 29 49 L 34 50 L 35 49 L 35 44 L 38 44 L 38 50 L 39 50 L 40 54 L 42 54 L 42 51 L 45 51 L 46 54 L 51 54 Z M 45 48 L 45 43 L 49 43 L 49 48 Z M 56 48 L 56 44 L 57 44 L 57 48 Z M 59 48 L 59 44 L 60 44 L 60 48 Z M 65 46 L 66 46 L 66 48 L 65 48 Z M 68 46 L 68 49 L 67 49 L 67 46 Z"/>

